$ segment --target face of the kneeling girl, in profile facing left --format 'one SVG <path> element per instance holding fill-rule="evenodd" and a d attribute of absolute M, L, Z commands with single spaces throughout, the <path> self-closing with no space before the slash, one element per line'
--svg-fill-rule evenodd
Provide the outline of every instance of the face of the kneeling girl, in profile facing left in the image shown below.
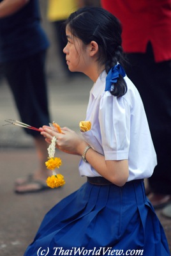
<path fill-rule="evenodd" d="M 68 43 L 64 47 L 63 52 L 66 54 L 66 63 L 71 72 L 82 72 L 85 74 L 88 65 L 88 54 L 86 46 L 82 41 L 73 36 L 66 27 L 66 38 Z"/>

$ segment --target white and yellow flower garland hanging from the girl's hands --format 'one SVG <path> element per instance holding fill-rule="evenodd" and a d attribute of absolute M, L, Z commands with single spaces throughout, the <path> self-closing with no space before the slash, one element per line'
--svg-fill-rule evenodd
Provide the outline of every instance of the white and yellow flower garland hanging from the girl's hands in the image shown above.
<path fill-rule="evenodd" d="M 52 138 L 52 142 L 47 148 L 48 150 L 48 161 L 45 162 L 47 169 L 52 170 L 52 176 L 47 178 L 47 186 L 50 188 L 58 188 L 65 184 L 63 175 L 57 174 L 55 169 L 61 166 L 62 161 L 59 157 L 54 157 L 56 152 L 56 137 Z"/>

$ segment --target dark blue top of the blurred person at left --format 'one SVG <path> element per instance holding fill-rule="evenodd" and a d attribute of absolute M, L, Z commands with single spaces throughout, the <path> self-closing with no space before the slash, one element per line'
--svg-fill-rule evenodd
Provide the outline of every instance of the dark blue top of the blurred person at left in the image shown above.
<path fill-rule="evenodd" d="M 49 43 L 40 19 L 38 0 L 29 1 L 18 12 L 0 19 L 0 63 L 20 60 L 47 49 Z"/>

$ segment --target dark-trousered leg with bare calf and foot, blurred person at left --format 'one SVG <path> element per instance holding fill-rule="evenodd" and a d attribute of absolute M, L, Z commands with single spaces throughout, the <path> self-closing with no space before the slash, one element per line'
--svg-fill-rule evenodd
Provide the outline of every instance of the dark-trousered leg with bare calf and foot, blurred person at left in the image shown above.
<path fill-rule="evenodd" d="M 50 121 L 48 114 L 47 84 L 45 81 L 45 52 L 36 54 L 26 60 L 14 61 L 4 65 L 4 74 L 8 79 L 11 91 L 19 110 L 22 122 L 41 127 Z M 41 93 L 40 93 L 41 92 Z M 16 190 L 18 192 L 29 189 L 39 189 L 40 184 L 33 180 L 44 182 L 50 174 L 45 166 L 47 161 L 47 143 L 38 132 L 25 129 L 33 136 L 36 152 L 38 154 L 39 167 L 34 171 L 31 182 L 27 179 L 18 179 Z"/>

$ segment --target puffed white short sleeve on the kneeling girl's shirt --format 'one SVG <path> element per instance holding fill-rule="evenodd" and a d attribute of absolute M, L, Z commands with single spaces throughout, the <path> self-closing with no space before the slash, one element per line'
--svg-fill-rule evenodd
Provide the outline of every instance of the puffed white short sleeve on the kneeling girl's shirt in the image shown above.
<path fill-rule="evenodd" d="M 106 160 L 128 159 L 130 120 L 130 106 L 124 97 L 105 92 L 100 100 L 99 122 Z"/>

